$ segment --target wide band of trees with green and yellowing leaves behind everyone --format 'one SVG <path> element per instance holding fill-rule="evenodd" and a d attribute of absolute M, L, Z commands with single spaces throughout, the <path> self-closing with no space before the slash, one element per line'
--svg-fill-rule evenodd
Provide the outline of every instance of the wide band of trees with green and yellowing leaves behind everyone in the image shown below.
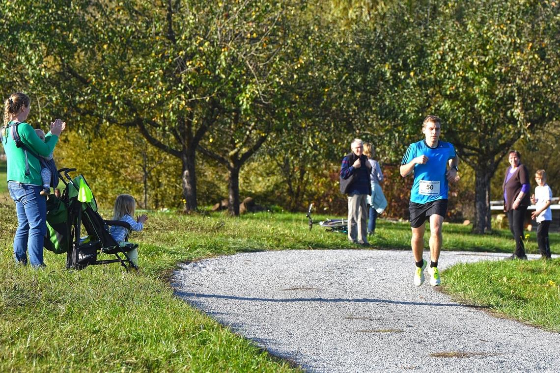
<path fill-rule="evenodd" d="M 550 180 L 560 180 L 553 160 L 557 135 L 550 135 L 559 112 L 557 3 L 0 5 L 10 20 L 0 27 L 3 96 L 29 93 L 35 126 L 54 117 L 67 120 L 81 144 L 68 163 L 95 164 L 82 167 L 96 175 L 89 181 L 98 174 L 106 180 L 109 187 L 99 185 L 111 198 L 128 190 L 144 200 L 145 154 L 147 168 L 161 165 L 150 173 L 148 190 L 156 194 L 148 206 L 176 207 L 184 199 L 194 209 L 197 195 L 203 204 L 217 202 L 226 194 L 226 163 L 216 166 L 208 153 L 200 157 L 202 145 L 214 160 L 254 170 L 240 175 L 245 195 L 256 193 L 290 210 L 329 201 L 330 211 L 343 211 L 334 176 L 352 138 L 372 142 L 382 164 L 397 164 L 407 144 L 421 138 L 426 114 L 444 119 L 443 138 L 456 145 L 466 166 L 452 191 L 459 202 L 452 214 L 477 215 L 479 231 L 489 225 L 487 200 L 501 195 L 501 181 L 495 181 L 501 172 L 492 189 L 491 177 L 514 144 L 535 159 L 531 168 L 545 168 Z M 128 136 L 139 141 L 132 145 L 136 158 L 125 154 L 122 141 L 90 153 L 108 124 L 129 128 Z M 265 148 L 255 153 L 265 160 L 262 170 L 249 157 L 264 138 Z M 533 156 L 537 149 L 547 149 L 539 153 L 545 154 L 542 162 Z M 110 168 L 133 171 L 118 177 Z M 405 207 L 393 207 L 408 198 L 403 180 L 388 183 L 388 213 L 405 216 Z M 477 210 L 461 206 L 473 201 L 473 191 Z"/>

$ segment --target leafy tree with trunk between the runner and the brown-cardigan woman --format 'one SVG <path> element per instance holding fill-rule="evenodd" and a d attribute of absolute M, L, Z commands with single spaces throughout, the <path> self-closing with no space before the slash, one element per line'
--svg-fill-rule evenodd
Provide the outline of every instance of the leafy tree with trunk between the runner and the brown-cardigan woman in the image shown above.
<path fill-rule="evenodd" d="M 420 137 L 423 116 L 442 117 L 443 139 L 475 171 L 474 230 L 483 233 L 489 228 L 489 182 L 503 155 L 560 116 L 558 7 L 508 0 L 405 2 L 380 20 L 369 32 L 357 26 L 355 43 L 375 51 L 366 59 L 374 68 L 352 69 L 351 81 L 372 87 L 371 117 L 379 119 L 379 133 L 390 129 L 384 145 L 395 160 Z M 353 55 L 357 63 L 363 58 Z M 361 107 L 367 111 L 365 101 Z"/>

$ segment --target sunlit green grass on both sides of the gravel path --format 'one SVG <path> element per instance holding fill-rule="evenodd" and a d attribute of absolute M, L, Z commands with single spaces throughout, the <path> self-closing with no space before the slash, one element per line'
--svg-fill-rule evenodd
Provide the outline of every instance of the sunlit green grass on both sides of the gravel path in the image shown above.
<path fill-rule="evenodd" d="M 0 214 L 0 371 L 295 370 L 290 362 L 270 356 L 176 298 L 167 279 L 182 261 L 236 252 L 350 247 L 343 234 L 325 232 L 319 226 L 309 231 L 305 214 L 259 213 L 234 219 L 218 213 L 149 213 L 146 229 L 132 237 L 141 244 L 138 273 L 125 272 L 118 265 L 67 271 L 66 257 L 50 252 L 45 252 L 46 270 L 33 271 L 13 264 L 17 221 L 13 202 L 5 193 L 0 194 Z M 102 211 L 102 215 L 110 213 Z M 506 231 L 485 237 L 469 232 L 468 226 L 446 224 L 445 249 L 513 249 Z M 550 238 L 552 251 L 560 253 L 560 236 Z M 371 243 L 409 250 L 409 240 L 408 223 L 379 220 Z M 558 281 L 547 281 L 560 278 L 559 262 L 456 266 L 442 274 L 444 289 L 512 317 L 560 330 L 560 317 L 552 308 L 539 318 L 539 309 L 529 303 L 534 300 L 530 298 L 540 298 L 542 304 L 558 304 L 554 292 L 558 292 Z M 533 267 L 534 271 L 522 269 Z M 519 277 L 513 275 L 516 271 Z M 495 277 L 488 279 L 496 286 L 491 291 L 494 298 L 503 303 L 508 297 L 513 299 L 507 307 L 478 298 L 489 286 L 474 286 L 478 285 L 476 273 L 486 276 L 489 272 Z M 500 281 L 503 277 L 507 280 Z M 507 295 L 512 284 L 521 283 L 525 295 Z M 540 309 L 544 309 L 542 304 Z M 521 312 L 526 308 L 530 308 L 528 313 Z"/>

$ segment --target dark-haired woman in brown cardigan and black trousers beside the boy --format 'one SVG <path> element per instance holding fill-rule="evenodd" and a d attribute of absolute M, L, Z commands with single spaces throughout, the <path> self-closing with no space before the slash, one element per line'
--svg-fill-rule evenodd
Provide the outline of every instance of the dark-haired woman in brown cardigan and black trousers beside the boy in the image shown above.
<path fill-rule="evenodd" d="M 530 205 L 529 171 L 521 164 L 521 154 L 511 150 L 508 157 L 511 166 L 503 178 L 503 211 L 507 213 L 511 233 L 515 239 L 515 252 L 511 259 L 527 259 L 523 243 L 525 212 Z"/>

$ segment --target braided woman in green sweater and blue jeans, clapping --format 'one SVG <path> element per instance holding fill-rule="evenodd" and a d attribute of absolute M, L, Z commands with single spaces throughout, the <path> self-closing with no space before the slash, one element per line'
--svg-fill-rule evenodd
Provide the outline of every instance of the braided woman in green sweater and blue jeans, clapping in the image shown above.
<path fill-rule="evenodd" d="M 18 226 L 13 239 L 16 262 L 33 267 L 44 267 L 43 242 L 46 233 L 46 199 L 43 190 L 41 165 L 36 155 L 46 157 L 53 152 L 66 123 L 60 119 L 50 125 L 50 132 L 41 140 L 25 121 L 31 110 L 31 100 L 21 92 L 13 93 L 4 102 L 4 129 L 2 145 L 7 158 L 7 181 L 10 196 L 16 202 Z M 12 129 L 17 130 L 24 147 L 14 141 Z M 34 153 L 34 154 L 31 154 Z"/>

